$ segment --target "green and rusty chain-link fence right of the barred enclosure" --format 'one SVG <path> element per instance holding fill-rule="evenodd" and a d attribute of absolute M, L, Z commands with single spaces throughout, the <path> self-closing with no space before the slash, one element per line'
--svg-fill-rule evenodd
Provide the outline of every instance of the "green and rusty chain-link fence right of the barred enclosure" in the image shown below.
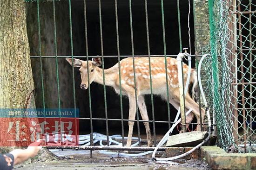
<path fill-rule="evenodd" d="M 205 91 L 219 145 L 256 151 L 256 2 L 209 0 L 211 39 L 205 52 Z"/>

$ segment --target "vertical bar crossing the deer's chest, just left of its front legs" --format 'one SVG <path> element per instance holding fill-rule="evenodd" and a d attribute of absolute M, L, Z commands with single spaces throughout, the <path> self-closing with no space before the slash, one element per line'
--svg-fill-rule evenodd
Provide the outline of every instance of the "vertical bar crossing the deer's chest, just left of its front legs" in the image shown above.
<path fill-rule="evenodd" d="M 120 90 L 122 146 L 124 146 L 123 102 L 122 102 L 122 84 L 121 84 L 121 70 L 120 70 L 121 66 L 120 66 L 120 48 L 119 48 L 117 0 L 115 0 L 115 27 L 116 27 L 116 45 L 117 45 L 117 56 L 118 56 L 118 71 L 119 71 L 119 90 Z"/>

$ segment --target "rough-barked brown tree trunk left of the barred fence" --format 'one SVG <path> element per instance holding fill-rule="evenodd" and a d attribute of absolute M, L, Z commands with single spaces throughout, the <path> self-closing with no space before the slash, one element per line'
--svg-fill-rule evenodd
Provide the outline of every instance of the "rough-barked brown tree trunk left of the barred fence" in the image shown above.
<path fill-rule="evenodd" d="M 23 0 L 0 0 L 0 108 L 35 107 L 25 9 Z M 16 118 L 0 119 L 0 143 L 10 121 Z M 29 127 L 27 119 L 20 121 Z M 29 128 L 24 131 L 30 134 Z"/>

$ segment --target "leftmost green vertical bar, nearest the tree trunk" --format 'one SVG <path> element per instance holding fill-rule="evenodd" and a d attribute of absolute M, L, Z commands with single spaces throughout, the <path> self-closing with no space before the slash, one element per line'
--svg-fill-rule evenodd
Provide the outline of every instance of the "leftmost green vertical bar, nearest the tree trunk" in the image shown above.
<path fill-rule="evenodd" d="M 44 108 L 44 121 L 46 121 L 45 117 L 45 96 L 44 96 L 44 80 L 43 80 L 43 66 L 42 66 L 42 52 L 41 52 L 41 30 L 40 30 L 40 10 L 39 10 L 39 0 L 37 0 L 37 26 L 38 26 L 38 50 L 39 50 L 39 61 L 40 61 L 40 76 L 41 76 L 41 86 L 42 86 L 42 99 L 43 99 L 43 108 Z M 45 132 L 47 129 L 44 127 Z M 47 136 L 46 136 L 47 138 Z M 47 139 L 46 139 L 47 145 Z"/>

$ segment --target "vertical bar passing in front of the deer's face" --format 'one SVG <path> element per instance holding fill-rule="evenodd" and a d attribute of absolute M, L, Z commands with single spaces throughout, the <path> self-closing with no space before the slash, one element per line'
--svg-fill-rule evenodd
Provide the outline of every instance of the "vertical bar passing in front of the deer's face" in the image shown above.
<path fill-rule="evenodd" d="M 87 37 L 87 14 L 86 14 L 86 1 L 84 0 L 84 27 L 85 27 L 85 49 L 86 49 L 86 60 L 89 61 L 88 54 L 88 37 Z M 89 73 L 89 62 L 87 62 L 87 72 Z M 91 87 L 90 87 L 90 76 L 88 75 L 88 98 L 89 98 L 89 114 L 90 114 L 90 133 L 93 134 L 93 116 L 92 116 L 92 101 L 91 101 Z M 94 145 L 90 142 L 90 145 Z M 91 158 L 93 157 L 93 151 L 90 150 Z"/>

